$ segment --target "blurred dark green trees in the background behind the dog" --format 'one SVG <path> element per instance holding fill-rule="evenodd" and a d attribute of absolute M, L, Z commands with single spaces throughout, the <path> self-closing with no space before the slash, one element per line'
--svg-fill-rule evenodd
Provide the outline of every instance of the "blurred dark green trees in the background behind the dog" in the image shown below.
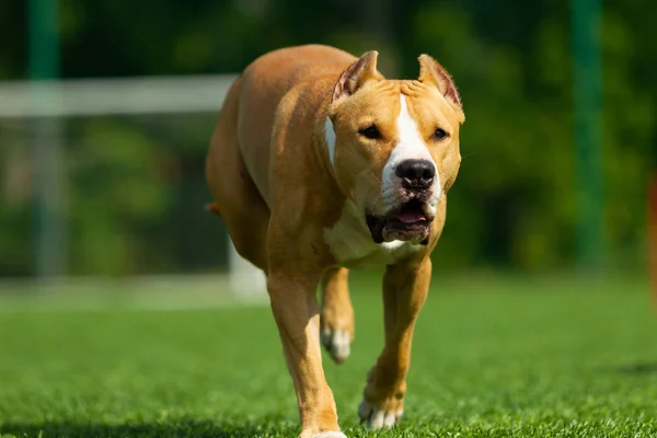
<path fill-rule="evenodd" d="M 604 1 L 599 33 L 595 7 L 586 0 L 60 0 L 57 15 L 45 19 L 58 25 L 54 74 L 64 79 L 238 73 L 268 50 L 306 43 L 354 54 L 376 48 L 384 74 L 415 78 L 416 57 L 428 53 L 454 77 L 466 114 L 436 269 L 554 272 L 581 262 L 642 273 L 647 182 L 657 168 L 657 3 Z M 30 11 L 26 0 L 0 2 L 0 83 L 35 74 Z M 33 47 L 39 49 L 34 41 Z M 592 70 L 577 73 L 576 62 Z M 576 124 L 580 91 L 585 125 Z M 205 112 L 62 122 L 65 274 L 226 267 L 223 224 L 203 211 L 215 118 Z M 35 272 L 33 122 L 0 118 L 2 277 Z"/>

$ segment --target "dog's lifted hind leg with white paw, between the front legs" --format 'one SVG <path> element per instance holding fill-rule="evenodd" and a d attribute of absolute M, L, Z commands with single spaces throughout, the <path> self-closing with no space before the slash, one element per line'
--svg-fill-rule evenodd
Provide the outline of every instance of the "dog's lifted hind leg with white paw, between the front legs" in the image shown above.
<path fill-rule="evenodd" d="M 321 338 L 336 364 L 342 364 L 349 356 L 354 341 L 348 274 L 344 267 L 333 267 L 322 278 Z"/>

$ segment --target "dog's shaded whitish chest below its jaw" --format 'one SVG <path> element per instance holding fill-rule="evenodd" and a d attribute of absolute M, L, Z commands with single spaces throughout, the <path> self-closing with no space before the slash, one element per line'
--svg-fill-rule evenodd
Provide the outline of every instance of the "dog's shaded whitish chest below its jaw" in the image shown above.
<path fill-rule="evenodd" d="M 324 242 L 337 263 L 346 267 L 390 265 L 417 250 L 417 245 L 399 240 L 374 243 L 362 214 L 350 200 L 333 228 L 324 230 Z"/>

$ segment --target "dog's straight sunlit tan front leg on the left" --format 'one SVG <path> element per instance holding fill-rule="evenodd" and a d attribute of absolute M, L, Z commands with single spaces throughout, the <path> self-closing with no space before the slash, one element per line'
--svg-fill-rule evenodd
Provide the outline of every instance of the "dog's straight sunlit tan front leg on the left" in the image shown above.
<path fill-rule="evenodd" d="M 335 401 L 322 368 L 315 297 L 320 276 L 270 272 L 267 288 L 297 391 L 300 438 L 346 438 L 339 431 Z"/>

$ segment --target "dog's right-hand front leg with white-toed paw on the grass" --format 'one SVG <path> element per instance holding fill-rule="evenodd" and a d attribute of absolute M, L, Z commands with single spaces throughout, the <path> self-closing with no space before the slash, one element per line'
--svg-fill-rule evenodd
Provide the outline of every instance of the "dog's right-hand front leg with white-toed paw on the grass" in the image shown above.
<path fill-rule="evenodd" d="M 427 297 L 430 277 L 428 255 L 422 261 L 388 266 L 383 277 L 385 345 L 367 376 L 358 408 L 361 420 L 370 428 L 393 426 L 402 416 L 413 330 Z"/>

